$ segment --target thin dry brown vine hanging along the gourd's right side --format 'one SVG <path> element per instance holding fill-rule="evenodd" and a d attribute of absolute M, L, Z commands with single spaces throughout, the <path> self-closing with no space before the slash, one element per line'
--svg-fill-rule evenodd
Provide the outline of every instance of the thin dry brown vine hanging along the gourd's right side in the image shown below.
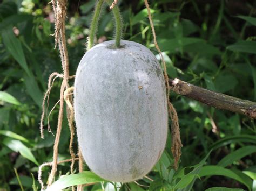
<path fill-rule="evenodd" d="M 165 83 L 167 86 L 167 105 L 169 108 L 168 113 L 172 119 L 172 125 L 171 125 L 171 128 L 172 128 L 172 133 L 171 133 L 172 134 L 172 154 L 173 154 L 173 158 L 174 158 L 174 168 L 178 169 L 179 159 L 181 156 L 181 147 L 183 146 L 181 143 L 181 140 L 180 140 L 179 119 L 178 119 L 178 115 L 177 115 L 175 108 L 173 107 L 173 105 L 171 104 L 171 102 L 169 100 L 169 95 L 170 95 L 169 79 L 168 79 L 168 75 L 167 75 L 167 71 L 166 71 L 164 56 L 157 44 L 156 32 L 154 31 L 154 24 L 153 24 L 152 17 L 151 17 L 149 3 L 147 3 L 147 0 L 144 0 L 144 3 L 147 8 L 147 15 L 149 16 L 150 26 L 151 26 L 151 30 L 152 30 L 153 37 L 154 37 L 154 46 L 156 46 L 157 51 L 159 52 L 161 61 L 164 65 L 164 78 L 165 78 Z"/>

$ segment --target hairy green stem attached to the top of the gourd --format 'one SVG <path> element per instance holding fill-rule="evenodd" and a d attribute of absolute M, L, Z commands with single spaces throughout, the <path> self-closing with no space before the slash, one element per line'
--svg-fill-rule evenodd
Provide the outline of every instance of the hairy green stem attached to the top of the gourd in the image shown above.
<path fill-rule="evenodd" d="M 106 0 L 106 3 L 111 6 L 113 1 L 111 0 Z M 112 11 L 113 11 L 113 15 L 114 15 L 114 19 L 115 19 L 115 22 L 116 22 L 116 42 L 114 44 L 114 46 L 116 48 L 119 48 L 120 47 L 120 43 L 121 43 L 121 38 L 122 38 L 122 30 L 123 30 L 123 22 L 122 22 L 122 16 L 121 16 L 121 13 L 120 13 L 120 10 L 118 8 L 118 6 L 114 6 L 112 8 Z"/>

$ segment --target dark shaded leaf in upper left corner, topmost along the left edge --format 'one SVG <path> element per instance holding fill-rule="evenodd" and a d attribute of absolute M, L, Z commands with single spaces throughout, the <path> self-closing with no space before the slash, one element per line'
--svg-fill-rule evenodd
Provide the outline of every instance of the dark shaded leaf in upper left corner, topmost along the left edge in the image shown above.
<path fill-rule="evenodd" d="M 23 15 L 15 14 L 15 15 L 6 17 L 5 19 L 2 20 L 2 22 L 0 22 L 0 32 L 6 29 L 6 27 L 8 27 L 9 25 L 16 25 L 17 23 L 21 23 L 24 21 L 32 20 L 32 19 L 33 19 L 32 15 L 25 15 L 25 14 Z"/>

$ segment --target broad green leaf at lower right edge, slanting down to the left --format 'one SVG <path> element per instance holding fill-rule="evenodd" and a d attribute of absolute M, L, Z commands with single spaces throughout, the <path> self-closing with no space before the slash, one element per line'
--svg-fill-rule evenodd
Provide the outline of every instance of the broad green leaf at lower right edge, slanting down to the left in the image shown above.
<path fill-rule="evenodd" d="M 256 152 L 256 146 L 241 147 L 238 150 L 233 151 L 232 153 L 226 155 L 226 157 L 221 159 L 218 163 L 218 166 L 226 167 L 228 165 L 231 165 L 234 161 L 238 161 L 241 158 L 255 152 Z"/>

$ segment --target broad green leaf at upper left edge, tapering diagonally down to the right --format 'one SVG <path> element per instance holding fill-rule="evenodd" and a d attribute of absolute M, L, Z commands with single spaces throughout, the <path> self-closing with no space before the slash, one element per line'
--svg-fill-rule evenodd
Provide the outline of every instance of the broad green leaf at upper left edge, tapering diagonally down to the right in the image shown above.
<path fill-rule="evenodd" d="M 15 37 L 11 27 L 8 27 L 8 29 L 5 29 L 2 31 L 2 39 L 6 49 L 10 52 L 10 54 L 14 57 L 14 59 L 19 63 L 19 65 L 25 70 L 26 74 L 28 74 L 28 76 L 31 76 L 31 72 L 26 63 L 21 41 L 19 41 Z"/>

